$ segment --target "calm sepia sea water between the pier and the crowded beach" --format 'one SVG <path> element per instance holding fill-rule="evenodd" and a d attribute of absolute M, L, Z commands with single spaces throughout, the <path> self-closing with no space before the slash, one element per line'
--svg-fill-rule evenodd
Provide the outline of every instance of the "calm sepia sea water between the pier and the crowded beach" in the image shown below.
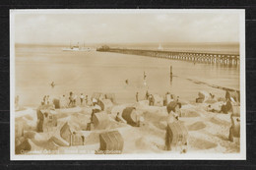
<path fill-rule="evenodd" d="M 15 48 L 15 94 L 24 106 L 39 105 L 44 95 L 54 98 L 65 94 L 68 98 L 70 91 L 89 97 L 94 92 L 113 92 L 118 103 L 135 102 L 137 91 L 139 99 L 144 99 L 146 90 L 160 95 L 170 91 L 180 99 L 195 101 L 199 90 L 218 96 L 224 96 L 224 90 L 187 79 L 239 89 L 239 78 L 239 66 L 108 52 L 62 51 L 61 47 L 53 46 Z M 50 85 L 52 82 L 54 87 Z"/>

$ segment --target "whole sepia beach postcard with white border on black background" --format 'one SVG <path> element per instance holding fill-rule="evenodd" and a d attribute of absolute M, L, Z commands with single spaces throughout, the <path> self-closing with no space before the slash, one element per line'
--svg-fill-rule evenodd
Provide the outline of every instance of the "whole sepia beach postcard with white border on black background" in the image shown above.
<path fill-rule="evenodd" d="M 244 10 L 10 10 L 11 160 L 246 159 Z"/>

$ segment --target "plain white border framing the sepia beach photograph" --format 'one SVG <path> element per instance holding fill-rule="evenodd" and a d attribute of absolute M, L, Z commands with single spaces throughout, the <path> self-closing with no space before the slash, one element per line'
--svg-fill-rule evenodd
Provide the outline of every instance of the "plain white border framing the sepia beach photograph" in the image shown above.
<path fill-rule="evenodd" d="M 244 9 L 73 9 L 10 10 L 10 159 L 11 160 L 246 160 L 246 116 L 241 114 L 239 153 L 148 153 L 148 154 L 15 154 L 15 15 L 16 14 L 88 14 L 88 13 L 228 13 L 240 17 L 240 112 L 246 113 L 245 102 L 245 10 Z"/>

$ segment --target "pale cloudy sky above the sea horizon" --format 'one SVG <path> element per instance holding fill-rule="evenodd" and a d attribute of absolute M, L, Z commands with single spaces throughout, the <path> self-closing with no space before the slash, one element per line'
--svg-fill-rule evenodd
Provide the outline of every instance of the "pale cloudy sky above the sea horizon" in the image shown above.
<path fill-rule="evenodd" d="M 16 43 L 238 42 L 239 15 L 16 14 Z"/>

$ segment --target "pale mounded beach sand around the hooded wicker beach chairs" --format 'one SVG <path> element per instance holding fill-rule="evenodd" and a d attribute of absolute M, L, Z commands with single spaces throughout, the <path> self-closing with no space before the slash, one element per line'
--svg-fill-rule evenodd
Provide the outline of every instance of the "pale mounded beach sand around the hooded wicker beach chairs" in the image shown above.
<path fill-rule="evenodd" d="M 141 127 L 114 121 L 117 112 L 127 106 L 135 106 L 143 115 L 145 122 Z M 239 138 L 228 141 L 231 126 L 230 115 L 206 111 L 206 103 L 187 103 L 182 105 L 182 117 L 179 121 L 188 131 L 187 152 L 203 153 L 237 153 L 239 152 Z M 108 114 L 109 126 L 104 130 L 86 131 L 90 122 L 92 108 L 75 107 L 56 109 L 57 127 L 50 132 L 36 133 L 36 110 L 27 108 L 15 113 L 16 126 L 23 125 L 24 135 L 16 134 L 16 145 L 29 140 L 32 145 L 25 154 L 93 154 L 99 148 L 99 134 L 108 131 L 118 131 L 124 141 L 122 153 L 162 153 L 179 152 L 178 147 L 170 151 L 164 150 L 167 111 L 166 106 L 149 106 L 143 102 L 119 104 L 112 107 Z M 85 145 L 60 146 L 50 141 L 52 136 L 59 133 L 61 127 L 69 122 L 71 126 L 85 136 Z M 46 151 L 45 151 L 46 150 Z"/>

